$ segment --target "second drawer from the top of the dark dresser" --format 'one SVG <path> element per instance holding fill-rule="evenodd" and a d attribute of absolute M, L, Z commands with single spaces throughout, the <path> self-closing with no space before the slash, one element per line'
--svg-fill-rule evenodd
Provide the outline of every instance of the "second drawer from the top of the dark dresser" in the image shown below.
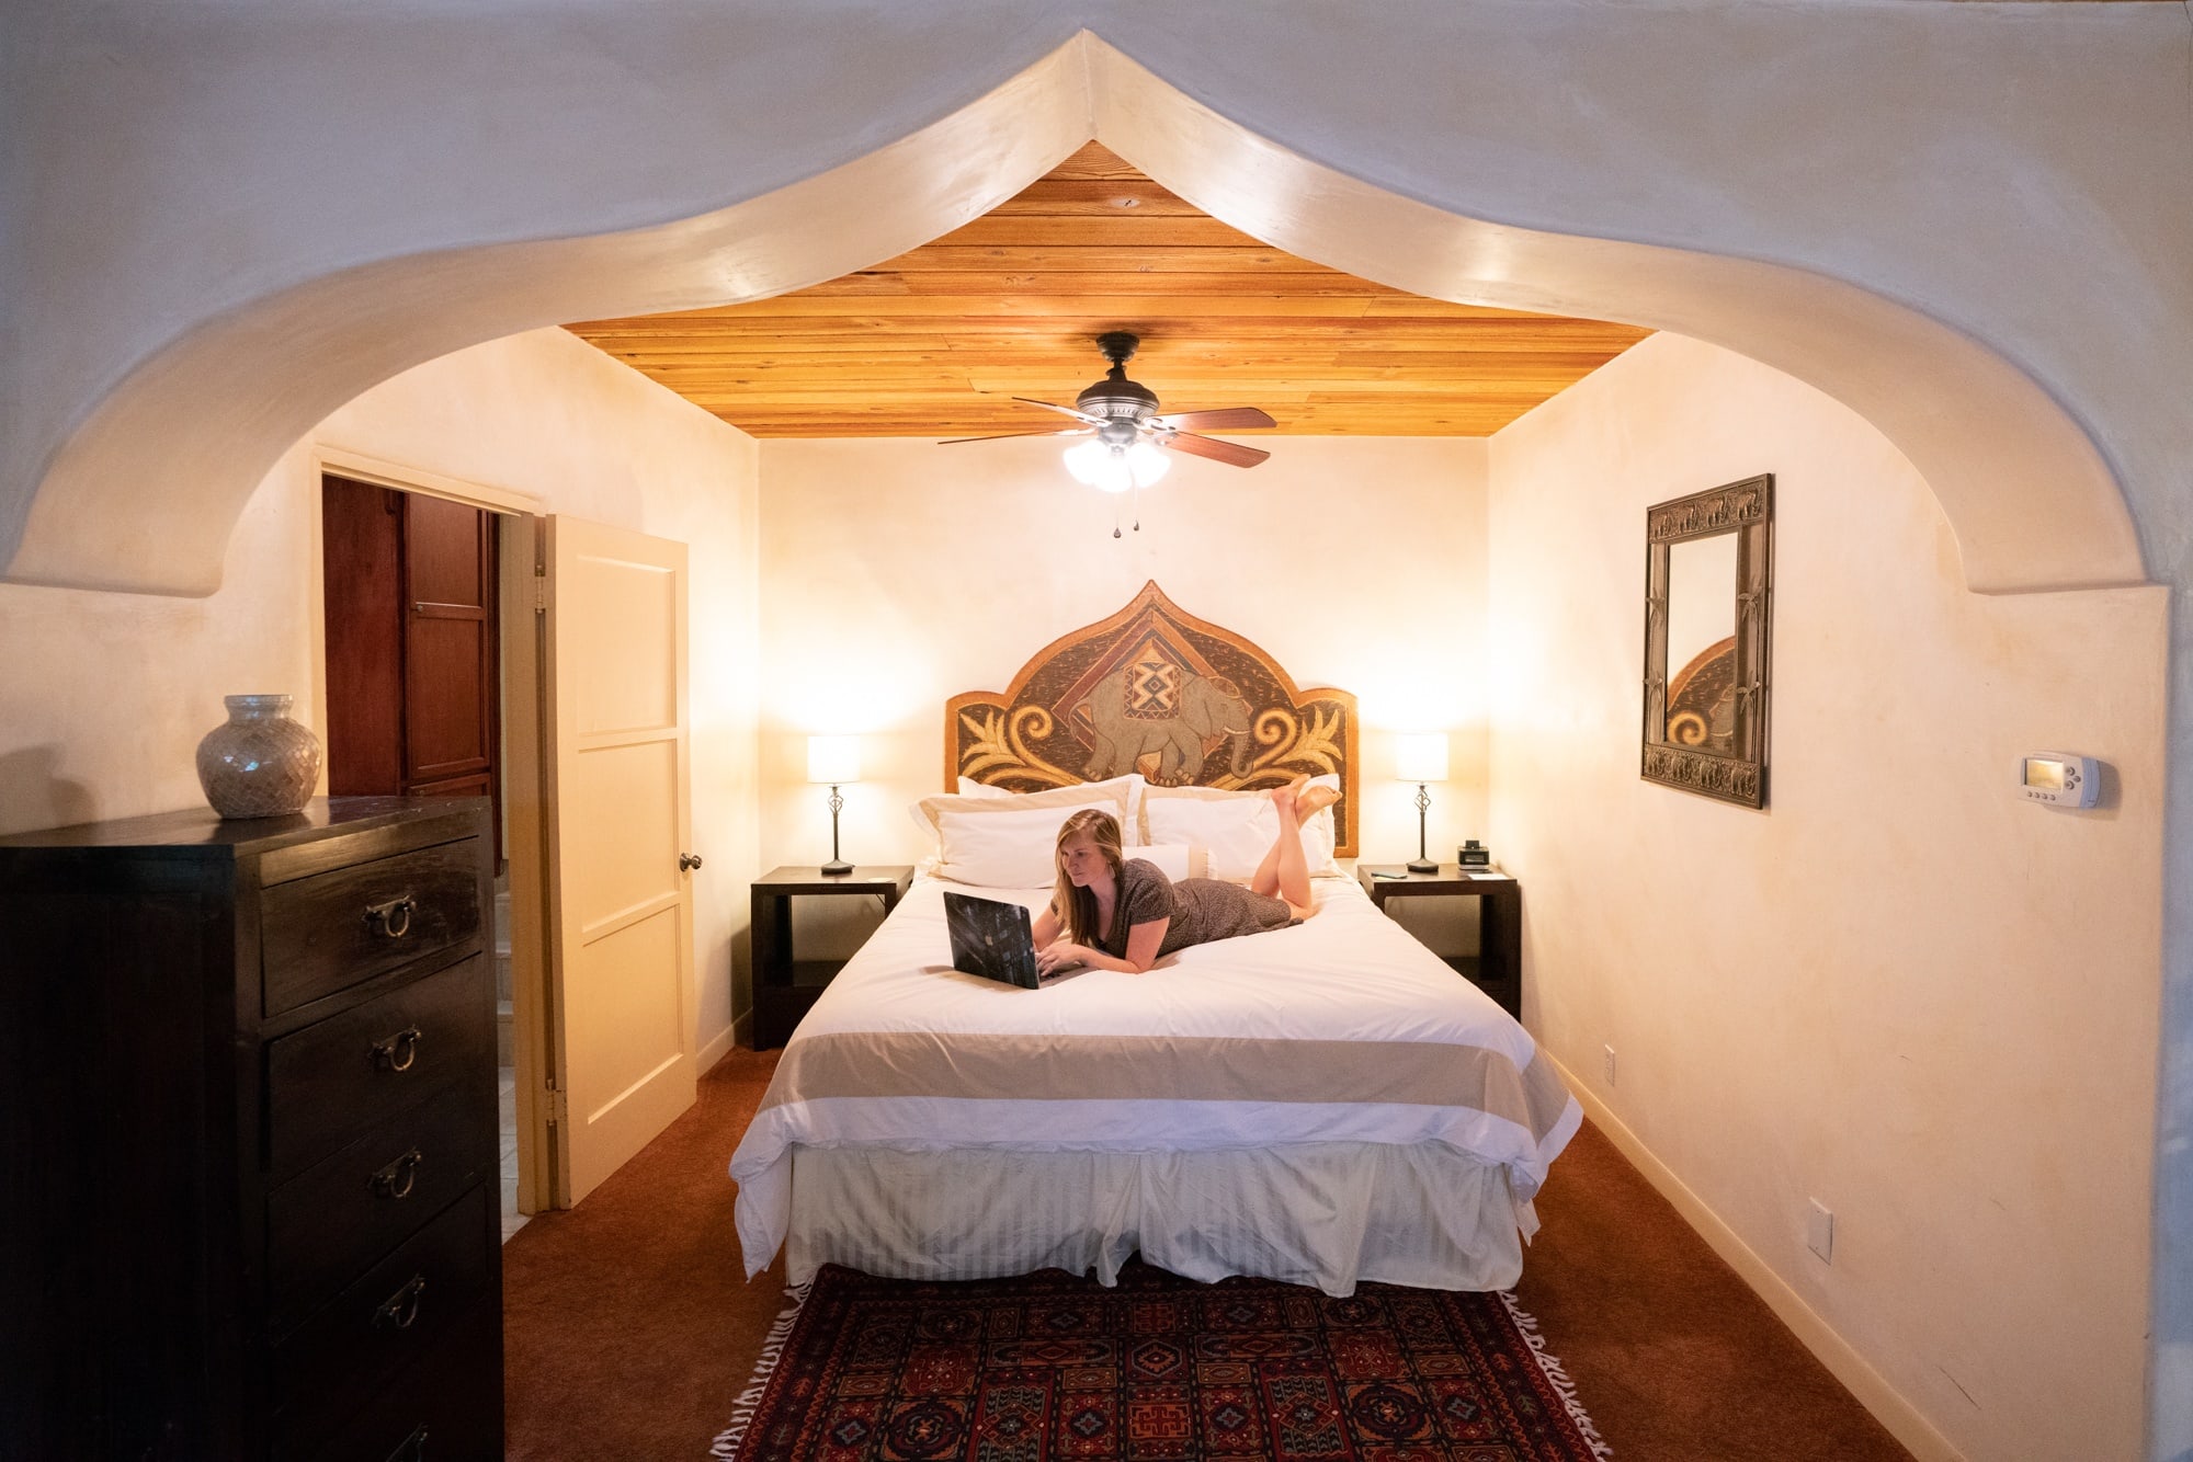
<path fill-rule="evenodd" d="M 268 1162 L 296 1173 L 493 1067 L 496 982 L 476 953 L 270 1041 Z"/>

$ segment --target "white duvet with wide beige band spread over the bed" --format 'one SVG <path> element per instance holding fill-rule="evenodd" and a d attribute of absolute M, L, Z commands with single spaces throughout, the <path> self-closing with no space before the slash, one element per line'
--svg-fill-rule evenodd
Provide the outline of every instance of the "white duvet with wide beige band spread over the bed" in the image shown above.
<path fill-rule="evenodd" d="M 785 1046 L 730 1160 L 750 1276 L 785 1238 L 794 1149 L 1432 1146 L 1502 1166 L 1522 1206 L 1581 1122 L 1531 1035 L 1351 877 L 1316 879 L 1296 927 L 1039 991 L 950 967 L 945 888 L 917 879 Z"/>

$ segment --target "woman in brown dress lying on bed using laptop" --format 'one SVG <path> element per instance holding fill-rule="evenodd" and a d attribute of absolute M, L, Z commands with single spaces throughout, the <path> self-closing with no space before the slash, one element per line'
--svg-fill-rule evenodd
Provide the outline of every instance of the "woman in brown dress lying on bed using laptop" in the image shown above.
<path fill-rule="evenodd" d="M 1035 967 L 1046 975 L 1068 964 L 1140 975 L 1175 949 L 1309 918 L 1316 910 L 1303 820 L 1340 793 L 1305 791 L 1305 780 L 1272 793 L 1279 835 L 1248 888 L 1224 879 L 1173 883 L 1156 864 L 1123 855 L 1112 813 L 1090 809 L 1068 818 L 1059 829 L 1059 888 L 1035 916 Z"/>

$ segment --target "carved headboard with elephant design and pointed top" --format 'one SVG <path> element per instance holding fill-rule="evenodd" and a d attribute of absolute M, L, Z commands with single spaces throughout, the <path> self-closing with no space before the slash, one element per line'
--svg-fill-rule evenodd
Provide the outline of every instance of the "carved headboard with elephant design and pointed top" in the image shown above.
<path fill-rule="evenodd" d="M 1340 774 L 1333 833 L 1355 855 L 1355 697 L 1303 690 L 1241 636 L 1182 614 L 1156 581 L 1112 618 L 945 704 L 945 789 L 1011 791 L 1140 772 L 1160 785 L 1281 787 Z"/>

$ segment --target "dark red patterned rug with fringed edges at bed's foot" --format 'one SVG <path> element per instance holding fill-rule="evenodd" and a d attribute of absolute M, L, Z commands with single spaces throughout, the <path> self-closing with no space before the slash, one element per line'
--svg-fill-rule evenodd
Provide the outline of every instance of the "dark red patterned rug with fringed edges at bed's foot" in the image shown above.
<path fill-rule="evenodd" d="M 1570 1462 L 1610 1455 L 1504 1293 L 1129 1263 L 961 1284 L 825 1267 L 794 1300 L 715 1458 L 737 1462 Z"/>

